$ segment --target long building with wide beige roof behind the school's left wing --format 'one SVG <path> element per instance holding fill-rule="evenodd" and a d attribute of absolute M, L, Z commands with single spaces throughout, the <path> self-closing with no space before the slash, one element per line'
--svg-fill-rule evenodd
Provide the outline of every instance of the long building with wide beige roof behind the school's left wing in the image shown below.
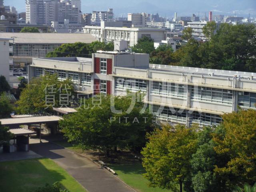
<path fill-rule="evenodd" d="M 48 52 L 65 43 L 91 43 L 96 39 L 84 33 L 0 33 L 0 38 L 12 39 L 13 59 L 15 66 L 32 64 L 33 57 L 45 57 Z"/>

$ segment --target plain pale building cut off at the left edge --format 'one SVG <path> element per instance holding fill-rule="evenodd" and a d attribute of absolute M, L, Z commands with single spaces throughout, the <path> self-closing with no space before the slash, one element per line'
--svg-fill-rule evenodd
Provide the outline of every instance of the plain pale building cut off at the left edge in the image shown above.
<path fill-rule="evenodd" d="M 0 38 L 0 75 L 5 76 L 6 80 L 10 82 L 10 66 L 12 66 L 12 59 L 10 59 L 10 53 L 12 53 L 12 46 L 9 46 L 8 38 Z"/>

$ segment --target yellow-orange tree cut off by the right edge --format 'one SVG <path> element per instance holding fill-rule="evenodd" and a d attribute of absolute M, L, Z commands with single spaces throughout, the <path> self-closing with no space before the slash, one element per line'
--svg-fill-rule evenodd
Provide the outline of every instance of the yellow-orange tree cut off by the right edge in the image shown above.
<path fill-rule="evenodd" d="M 256 111 L 239 110 L 222 116 L 218 127 L 222 134 L 214 134 L 215 152 L 222 165 L 214 172 L 227 179 L 228 186 L 256 181 Z"/>

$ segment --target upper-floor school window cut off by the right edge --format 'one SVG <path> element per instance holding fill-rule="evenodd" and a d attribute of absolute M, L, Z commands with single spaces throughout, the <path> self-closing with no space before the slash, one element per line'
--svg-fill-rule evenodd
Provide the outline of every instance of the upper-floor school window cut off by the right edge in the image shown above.
<path fill-rule="evenodd" d="M 238 92 L 238 105 L 248 108 L 256 108 L 256 93 Z"/>

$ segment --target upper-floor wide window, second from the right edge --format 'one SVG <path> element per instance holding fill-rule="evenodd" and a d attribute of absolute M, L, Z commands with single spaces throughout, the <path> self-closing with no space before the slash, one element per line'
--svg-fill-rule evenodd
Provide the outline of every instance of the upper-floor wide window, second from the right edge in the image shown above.
<path fill-rule="evenodd" d="M 233 91 L 227 89 L 192 86 L 191 98 L 194 100 L 202 100 L 232 105 Z"/>

